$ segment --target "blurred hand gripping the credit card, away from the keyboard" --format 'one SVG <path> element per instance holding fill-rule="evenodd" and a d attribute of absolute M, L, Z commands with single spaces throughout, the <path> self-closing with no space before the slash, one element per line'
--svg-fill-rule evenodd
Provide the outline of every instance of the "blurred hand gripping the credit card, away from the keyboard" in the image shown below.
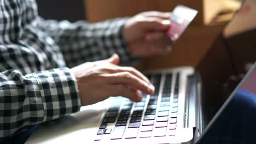
<path fill-rule="evenodd" d="M 171 13 L 149 11 L 131 17 L 123 29 L 123 35 L 132 56 L 162 55 L 171 51 L 172 40 L 166 35 Z"/>

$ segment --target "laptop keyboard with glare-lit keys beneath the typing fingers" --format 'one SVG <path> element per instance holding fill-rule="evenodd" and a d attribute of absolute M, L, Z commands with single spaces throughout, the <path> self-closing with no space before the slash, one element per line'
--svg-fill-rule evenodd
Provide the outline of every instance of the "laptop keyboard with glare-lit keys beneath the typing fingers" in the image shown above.
<path fill-rule="evenodd" d="M 175 77 L 173 94 L 171 94 L 173 74 L 165 74 L 163 86 L 160 86 L 163 80 L 161 74 L 147 77 L 155 86 L 154 94 L 142 94 L 142 101 L 138 103 L 123 97 L 115 97 L 104 115 L 95 141 L 100 141 L 103 135 L 109 134 L 111 140 L 175 135 L 179 74 Z M 108 128 L 108 124 L 115 124 L 115 127 Z"/>

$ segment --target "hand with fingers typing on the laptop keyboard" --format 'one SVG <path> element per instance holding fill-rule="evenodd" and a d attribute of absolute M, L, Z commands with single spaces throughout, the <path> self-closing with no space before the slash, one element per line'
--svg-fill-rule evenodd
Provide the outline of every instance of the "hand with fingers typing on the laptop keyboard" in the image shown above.
<path fill-rule="evenodd" d="M 119 57 L 88 62 L 71 69 L 77 79 L 82 105 L 95 104 L 112 96 L 141 101 L 141 92 L 152 94 L 154 86 L 147 77 L 131 67 L 119 67 Z"/>

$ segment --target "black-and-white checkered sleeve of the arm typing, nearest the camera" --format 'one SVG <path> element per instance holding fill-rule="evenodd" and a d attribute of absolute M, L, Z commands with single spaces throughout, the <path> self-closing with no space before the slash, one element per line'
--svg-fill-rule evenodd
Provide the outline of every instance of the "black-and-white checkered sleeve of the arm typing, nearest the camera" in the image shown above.
<path fill-rule="evenodd" d="M 68 68 L 22 75 L 0 73 L 0 140 L 80 109 L 75 78 Z"/>

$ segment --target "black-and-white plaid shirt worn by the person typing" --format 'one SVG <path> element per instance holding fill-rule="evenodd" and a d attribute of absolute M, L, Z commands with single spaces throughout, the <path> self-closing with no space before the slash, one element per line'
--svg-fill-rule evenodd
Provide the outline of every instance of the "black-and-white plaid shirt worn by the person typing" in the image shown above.
<path fill-rule="evenodd" d="M 0 140 L 80 109 L 75 65 L 118 53 L 126 19 L 43 20 L 34 0 L 0 0 Z"/>

